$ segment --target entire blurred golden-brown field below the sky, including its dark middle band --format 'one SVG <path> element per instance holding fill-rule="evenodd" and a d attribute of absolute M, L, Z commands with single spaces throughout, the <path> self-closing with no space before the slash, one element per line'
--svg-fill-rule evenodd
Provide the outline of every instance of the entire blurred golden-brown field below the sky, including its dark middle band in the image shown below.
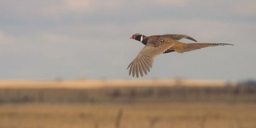
<path fill-rule="evenodd" d="M 1 81 L 0 128 L 256 128 L 256 86 L 200 80 Z"/>

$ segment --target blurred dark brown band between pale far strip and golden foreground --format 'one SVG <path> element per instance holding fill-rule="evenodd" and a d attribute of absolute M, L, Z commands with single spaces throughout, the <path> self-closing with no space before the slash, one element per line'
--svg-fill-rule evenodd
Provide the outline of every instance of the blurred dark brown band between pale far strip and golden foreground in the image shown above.
<path fill-rule="evenodd" d="M 0 89 L 0 104 L 136 102 L 256 102 L 256 86 Z"/>

